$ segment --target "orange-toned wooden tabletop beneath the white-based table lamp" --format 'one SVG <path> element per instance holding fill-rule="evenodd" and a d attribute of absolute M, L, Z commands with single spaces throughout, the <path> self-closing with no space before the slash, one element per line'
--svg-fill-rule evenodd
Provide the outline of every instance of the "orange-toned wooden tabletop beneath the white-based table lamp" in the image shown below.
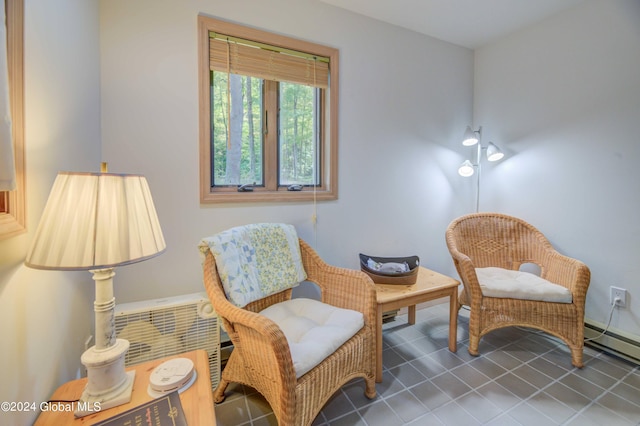
<path fill-rule="evenodd" d="M 91 425 L 100 420 L 108 419 L 116 414 L 135 408 L 153 398 L 147 393 L 149 376 L 154 368 L 172 358 L 189 358 L 193 361 L 196 381 L 189 389 L 180 393 L 180 402 L 184 409 L 185 418 L 189 425 L 215 426 L 216 416 L 213 409 L 213 394 L 211 392 L 211 376 L 209 373 L 209 357 L 204 350 L 187 352 L 167 358 L 148 361 L 127 368 L 127 371 L 135 370 L 136 377 L 133 383 L 131 401 L 117 407 L 89 414 L 85 417 L 75 418 L 71 411 L 43 411 L 35 422 L 36 426 L 59 425 Z M 60 386 L 51 396 L 50 400 L 73 401 L 80 398 L 87 383 L 87 379 L 78 379 Z"/>

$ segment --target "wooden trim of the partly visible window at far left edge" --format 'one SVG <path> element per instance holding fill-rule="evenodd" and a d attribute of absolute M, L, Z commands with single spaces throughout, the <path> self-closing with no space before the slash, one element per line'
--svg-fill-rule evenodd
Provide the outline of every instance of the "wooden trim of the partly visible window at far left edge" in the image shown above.
<path fill-rule="evenodd" d="M 0 239 L 26 231 L 24 172 L 24 0 L 5 0 L 16 189 L 0 192 Z"/>

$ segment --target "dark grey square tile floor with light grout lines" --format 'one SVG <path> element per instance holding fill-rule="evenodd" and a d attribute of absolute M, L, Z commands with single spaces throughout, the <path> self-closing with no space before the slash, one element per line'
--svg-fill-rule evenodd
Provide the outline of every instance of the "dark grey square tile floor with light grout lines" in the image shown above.
<path fill-rule="evenodd" d="M 559 340 L 508 328 L 482 338 L 481 356 L 467 352 L 468 315 L 461 311 L 458 351 L 447 349 L 448 303 L 384 325 L 384 378 L 378 396 L 353 381 L 325 405 L 314 425 L 640 425 L 640 367 L 585 348 L 571 366 Z M 219 426 L 276 425 L 253 389 L 229 386 L 215 407 Z"/>

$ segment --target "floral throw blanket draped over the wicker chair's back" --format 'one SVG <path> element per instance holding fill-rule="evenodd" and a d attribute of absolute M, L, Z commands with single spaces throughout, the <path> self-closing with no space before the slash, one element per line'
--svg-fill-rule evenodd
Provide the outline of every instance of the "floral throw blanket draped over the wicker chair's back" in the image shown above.
<path fill-rule="evenodd" d="M 293 225 L 258 223 L 228 229 L 200 243 L 211 250 L 231 303 L 243 307 L 307 278 Z"/>

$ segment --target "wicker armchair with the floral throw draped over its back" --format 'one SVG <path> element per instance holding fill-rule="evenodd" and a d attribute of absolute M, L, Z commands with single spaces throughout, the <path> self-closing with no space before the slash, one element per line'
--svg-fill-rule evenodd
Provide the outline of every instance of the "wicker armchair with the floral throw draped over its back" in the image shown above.
<path fill-rule="evenodd" d="M 322 302 L 364 314 L 364 327 L 312 370 L 296 378 L 287 340 L 280 328 L 257 312 L 291 298 L 291 289 L 239 308 L 230 303 L 211 252 L 204 261 L 204 286 L 233 342 L 214 401 L 222 402 L 230 382 L 260 392 L 271 405 L 281 426 L 309 425 L 327 400 L 350 380 L 365 380 L 365 395 L 376 396 L 375 324 L 376 293 L 369 277 L 356 270 L 326 264 L 300 240 L 307 280 L 322 293 Z"/>

